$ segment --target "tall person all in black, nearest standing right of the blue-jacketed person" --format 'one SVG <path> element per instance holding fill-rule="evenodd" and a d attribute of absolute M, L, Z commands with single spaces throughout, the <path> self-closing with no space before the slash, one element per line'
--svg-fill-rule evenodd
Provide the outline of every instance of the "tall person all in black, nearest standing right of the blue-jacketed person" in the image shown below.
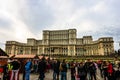
<path fill-rule="evenodd" d="M 45 70 L 46 70 L 46 61 L 45 58 L 43 57 L 42 60 L 38 63 L 39 80 L 44 80 Z"/>

